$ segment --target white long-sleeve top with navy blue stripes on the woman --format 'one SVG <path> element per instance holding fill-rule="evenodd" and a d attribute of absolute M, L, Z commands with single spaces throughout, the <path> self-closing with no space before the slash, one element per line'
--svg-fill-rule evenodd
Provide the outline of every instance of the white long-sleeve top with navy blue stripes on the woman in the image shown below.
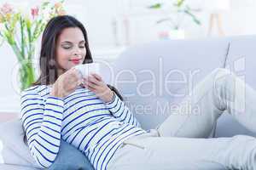
<path fill-rule="evenodd" d="M 114 94 L 104 103 L 86 88 L 61 99 L 41 85 L 21 94 L 21 122 L 29 150 L 41 167 L 49 167 L 61 139 L 88 157 L 96 170 L 105 170 L 125 139 L 146 133 L 125 103 Z"/>

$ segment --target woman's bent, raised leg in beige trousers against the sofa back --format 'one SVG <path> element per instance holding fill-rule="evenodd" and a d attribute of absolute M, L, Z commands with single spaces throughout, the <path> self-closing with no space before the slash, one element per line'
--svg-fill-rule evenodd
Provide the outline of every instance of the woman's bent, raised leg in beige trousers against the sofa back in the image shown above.
<path fill-rule="evenodd" d="M 216 69 L 157 130 L 160 136 L 206 138 L 225 110 L 256 132 L 256 92 L 230 71 Z"/>

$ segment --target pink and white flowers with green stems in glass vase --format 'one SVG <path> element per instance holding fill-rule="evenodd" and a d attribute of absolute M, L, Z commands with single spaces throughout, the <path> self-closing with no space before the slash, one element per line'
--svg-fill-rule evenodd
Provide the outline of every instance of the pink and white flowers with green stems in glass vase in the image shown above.
<path fill-rule="evenodd" d="M 41 3 L 39 7 L 28 9 L 30 14 L 14 8 L 9 3 L 0 7 L 0 45 L 8 42 L 20 65 L 20 90 L 35 82 L 33 65 L 35 46 L 38 37 L 44 31 L 48 20 L 56 15 L 65 14 L 63 3 Z"/>

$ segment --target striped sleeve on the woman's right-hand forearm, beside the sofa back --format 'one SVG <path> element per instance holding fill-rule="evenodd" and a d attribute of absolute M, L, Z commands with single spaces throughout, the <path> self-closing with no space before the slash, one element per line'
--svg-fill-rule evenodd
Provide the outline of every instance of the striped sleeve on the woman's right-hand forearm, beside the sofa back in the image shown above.
<path fill-rule="evenodd" d="M 105 104 L 108 110 L 117 118 L 120 122 L 126 122 L 136 127 L 141 127 L 137 118 L 131 113 L 129 108 L 125 105 L 125 102 L 119 99 L 118 95 L 114 93 L 113 100 Z"/>

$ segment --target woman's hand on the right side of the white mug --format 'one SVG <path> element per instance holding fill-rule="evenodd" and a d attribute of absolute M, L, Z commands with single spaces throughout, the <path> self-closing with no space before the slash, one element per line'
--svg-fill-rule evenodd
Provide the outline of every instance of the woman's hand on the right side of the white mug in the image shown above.
<path fill-rule="evenodd" d="M 112 101 L 113 91 L 108 88 L 107 84 L 102 81 L 102 77 L 97 74 L 91 74 L 83 78 L 84 88 L 90 89 L 97 97 L 102 99 L 105 103 Z"/>

